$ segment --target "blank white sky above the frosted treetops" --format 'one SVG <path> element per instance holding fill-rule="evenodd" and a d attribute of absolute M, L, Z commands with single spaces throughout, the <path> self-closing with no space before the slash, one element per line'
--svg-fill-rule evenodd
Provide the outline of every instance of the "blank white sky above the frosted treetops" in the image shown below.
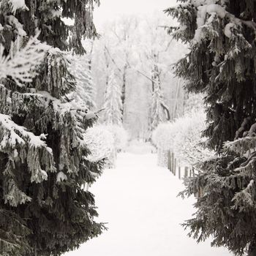
<path fill-rule="evenodd" d="M 176 5 L 176 0 L 101 0 L 99 7 L 94 10 L 94 23 L 100 26 L 108 20 L 121 15 L 151 14 Z"/>

